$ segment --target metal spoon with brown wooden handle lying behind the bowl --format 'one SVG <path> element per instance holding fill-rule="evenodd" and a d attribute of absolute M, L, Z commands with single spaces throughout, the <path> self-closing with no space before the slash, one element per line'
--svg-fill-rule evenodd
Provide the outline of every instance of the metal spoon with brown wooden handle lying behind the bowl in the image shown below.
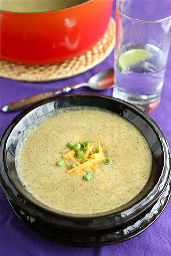
<path fill-rule="evenodd" d="M 39 100 L 47 99 L 49 97 L 52 97 L 54 95 L 58 95 L 61 93 L 68 93 L 71 90 L 75 90 L 80 87 L 89 87 L 93 90 L 104 90 L 104 89 L 114 87 L 114 70 L 113 70 L 113 68 L 103 70 L 103 71 L 95 74 L 88 80 L 88 82 L 76 83 L 76 84 L 73 84 L 71 87 L 63 87 L 61 90 L 40 93 L 40 94 L 37 94 L 34 96 L 16 100 L 14 102 L 11 102 L 11 103 L 3 106 L 2 111 L 9 112 L 9 111 L 23 109 L 26 106 L 28 106 L 32 103 L 35 103 Z"/>

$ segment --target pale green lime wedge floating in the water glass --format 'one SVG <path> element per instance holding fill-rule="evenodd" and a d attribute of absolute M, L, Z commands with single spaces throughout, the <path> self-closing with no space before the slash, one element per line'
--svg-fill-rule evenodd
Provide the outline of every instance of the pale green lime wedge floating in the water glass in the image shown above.
<path fill-rule="evenodd" d="M 135 65 L 137 62 L 144 60 L 152 53 L 145 49 L 131 49 L 129 51 L 124 52 L 119 57 L 119 65 L 122 68 L 127 68 L 129 66 Z"/>

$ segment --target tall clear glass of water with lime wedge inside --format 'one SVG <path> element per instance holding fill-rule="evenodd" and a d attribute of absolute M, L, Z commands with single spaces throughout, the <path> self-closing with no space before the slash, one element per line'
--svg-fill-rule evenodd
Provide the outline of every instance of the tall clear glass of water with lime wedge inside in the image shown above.
<path fill-rule="evenodd" d="M 146 113 L 157 108 L 170 35 L 170 0 L 117 0 L 114 97 Z"/>

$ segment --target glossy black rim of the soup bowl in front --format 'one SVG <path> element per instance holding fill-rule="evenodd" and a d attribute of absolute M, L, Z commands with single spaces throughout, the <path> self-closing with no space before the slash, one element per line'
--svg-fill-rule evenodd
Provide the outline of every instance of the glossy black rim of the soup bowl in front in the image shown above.
<path fill-rule="evenodd" d="M 138 201 L 134 204 L 134 211 L 132 214 L 129 214 L 130 209 L 133 208 L 133 206 L 130 206 L 126 209 L 121 209 L 122 207 L 118 208 L 121 209 L 120 211 L 108 211 L 103 214 L 99 215 L 89 215 L 89 216 L 78 216 L 78 215 L 72 215 L 72 214 L 65 214 L 63 212 L 57 212 L 57 211 L 48 211 L 47 209 L 38 206 L 34 204 L 33 202 L 30 202 L 27 198 L 25 198 L 18 188 L 14 186 L 12 183 L 10 177 L 8 176 L 8 168 L 6 166 L 5 162 L 5 151 L 6 151 L 6 143 L 8 141 L 8 138 L 10 137 L 11 132 L 13 131 L 16 124 L 22 120 L 27 114 L 31 113 L 37 108 L 41 108 L 41 105 L 45 105 L 50 102 L 59 102 L 62 100 L 78 100 L 78 99 L 88 99 L 88 98 L 94 98 L 98 100 L 103 101 L 110 101 L 115 102 L 120 105 L 120 108 L 124 107 L 126 109 L 126 112 L 124 113 L 124 110 L 122 110 L 122 116 L 125 117 L 127 115 L 127 110 L 130 110 L 131 113 L 135 113 L 136 116 L 141 117 L 148 125 L 151 127 L 153 132 L 156 134 L 161 150 L 162 150 L 162 158 L 163 158 L 163 165 L 161 166 L 162 170 L 165 170 L 164 177 L 160 176 L 158 179 L 157 184 L 154 186 L 155 190 L 149 192 L 149 194 L 143 198 L 142 200 Z M 170 160 L 170 151 L 167 144 L 167 141 L 160 130 L 159 126 L 156 124 L 156 122 L 147 114 L 145 114 L 142 110 L 138 109 L 136 106 L 125 102 L 120 99 L 113 98 L 111 96 L 105 96 L 105 95 L 99 95 L 99 94 L 71 94 L 71 95 L 62 95 L 62 96 L 56 96 L 52 97 L 50 99 L 41 100 L 33 105 L 31 105 L 29 108 L 24 110 L 23 112 L 19 113 L 7 126 L 6 130 L 4 131 L 1 141 L 0 141 L 0 164 L 2 165 L 0 169 L 0 184 L 8 198 L 9 201 L 12 201 L 13 204 L 15 204 L 17 207 L 20 208 L 20 210 L 26 212 L 30 216 L 33 216 L 35 219 L 40 219 L 41 221 L 47 221 L 50 225 L 53 224 L 56 226 L 60 226 L 63 228 L 74 228 L 74 229 L 105 229 L 105 228 L 112 228 L 115 225 L 124 225 L 127 222 L 131 222 L 133 219 L 137 218 L 140 214 L 144 214 L 144 211 L 148 210 L 150 207 L 152 207 L 155 202 L 158 200 L 158 198 L 163 193 L 165 187 L 167 186 L 169 182 L 170 177 L 170 166 L 171 166 L 171 160 Z M 153 199 L 153 200 L 152 200 Z M 132 201 L 131 201 L 132 202 Z M 144 208 L 144 202 L 145 208 Z M 37 212 L 38 210 L 38 212 Z M 39 212 L 40 211 L 40 212 Z M 44 213 L 44 216 L 42 216 L 42 212 Z M 48 218 L 46 218 L 48 216 Z"/>

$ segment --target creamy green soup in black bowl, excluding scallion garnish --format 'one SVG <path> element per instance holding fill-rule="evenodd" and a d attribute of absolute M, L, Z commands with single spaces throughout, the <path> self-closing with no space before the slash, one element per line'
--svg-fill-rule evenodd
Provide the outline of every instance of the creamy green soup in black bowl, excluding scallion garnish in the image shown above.
<path fill-rule="evenodd" d="M 16 155 L 17 174 L 34 198 L 53 209 L 78 215 L 116 209 L 134 199 L 151 174 L 146 139 L 131 122 L 112 112 L 66 109 L 30 131 Z M 92 164 L 94 169 L 88 166 L 72 173 L 67 165 L 71 159 L 58 166 L 72 151 L 68 143 L 78 141 L 94 143 L 89 157 L 99 147 L 101 156 L 112 162 L 99 161 Z M 77 160 L 77 155 L 73 158 Z M 84 178 L 87 173 L 90 181 Z"/>

